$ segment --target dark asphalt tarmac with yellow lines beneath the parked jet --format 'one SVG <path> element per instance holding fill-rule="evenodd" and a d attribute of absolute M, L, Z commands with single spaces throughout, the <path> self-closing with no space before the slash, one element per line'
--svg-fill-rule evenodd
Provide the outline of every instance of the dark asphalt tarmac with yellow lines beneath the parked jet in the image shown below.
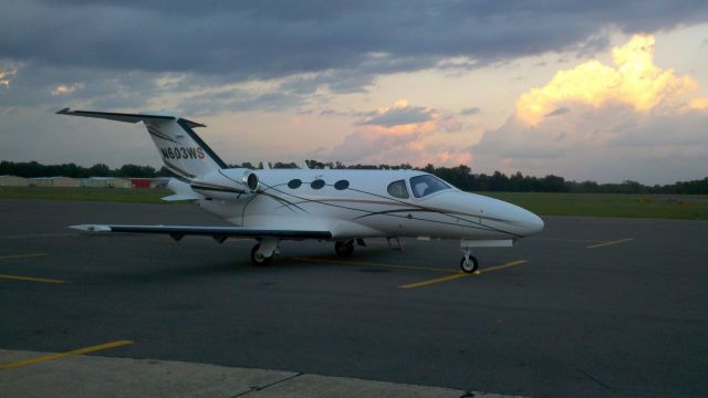
<path fill-rule="evenodd" d="M 455 241 L 86 237 L 222 224 L 194 206 L 0 201 L 0 348 L 181 360 L 533 397 L 708 396 L 708 222 L 544 218 L 511 249 Z M 503 266 L 499 266 L 503 265 Z M 0 370 L 2 371 L 2 370 Z"/>

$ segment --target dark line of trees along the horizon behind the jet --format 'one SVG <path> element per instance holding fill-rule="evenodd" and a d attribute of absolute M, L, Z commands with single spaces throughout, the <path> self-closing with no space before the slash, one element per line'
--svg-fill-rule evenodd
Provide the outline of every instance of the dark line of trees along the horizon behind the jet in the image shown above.
<path fill-rule="evenodd" d="M 308 167 L 332 169 L 414 169 L 409 164 L 400 165 L 344 165 L 341 161 L 322 163 L 306 160 Z M 252 169 L 263 168 L 262 164 L 253 165 L 243 163 L 231 167 L 247 167 Z M 294 163 L 274 163 L 268 165 L 271 168 L 298 168 Z M 625 180 L 618 184 L 598 184 L 595 181 L 569 181 L 563 177 L 549 175 L 545 177 L 524 176 L 520 171 L 506 175 L 494 171 L 491 175 L 473 174 L 466 165 L 457 167 L 436 167 L 428 164 L 419 170 L 430 172 L 466 191 L 516 191 L 516 192 L 579 192 L 579 193 L 680 193 L 680 195 L 708 195 L 708 177 L 701 180 L 679 181 L 669 185 L 646 186 L 637 181 Z M 162 167 L 155 169 L 150 166 L 124 165 L 111 169 L 104 164 L 83 167 L 71 164 L 41 165 L 37 161 L 13 163 L 0 161 L 0 176 L 12 175 L 25 178 L 65 176 L 74 178 L 87 177 L 170 177 L 171 172 Z"/>

